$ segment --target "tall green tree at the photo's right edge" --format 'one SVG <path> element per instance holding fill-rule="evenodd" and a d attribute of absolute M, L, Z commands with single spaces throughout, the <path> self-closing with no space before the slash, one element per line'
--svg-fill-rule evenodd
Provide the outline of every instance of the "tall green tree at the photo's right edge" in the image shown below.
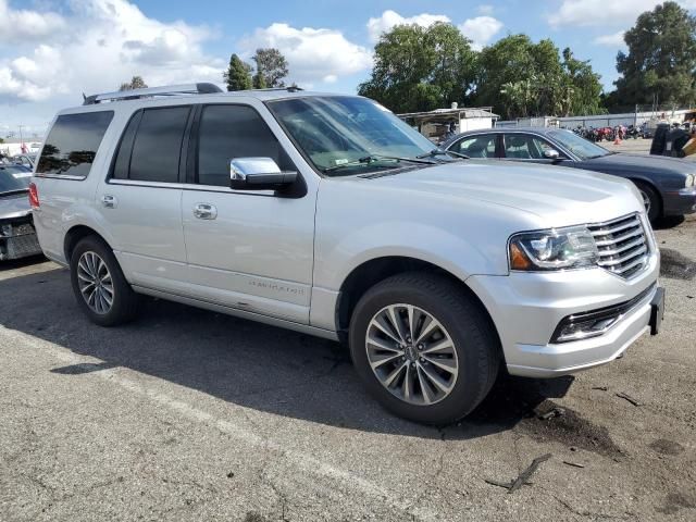
<path fill-rule="evenodd" d="M 623 37 L 629 52 L 619 52 L 616 100 L 622 104 L 695 99 L 696 18 L 676 2 L 641 14 Z"/>

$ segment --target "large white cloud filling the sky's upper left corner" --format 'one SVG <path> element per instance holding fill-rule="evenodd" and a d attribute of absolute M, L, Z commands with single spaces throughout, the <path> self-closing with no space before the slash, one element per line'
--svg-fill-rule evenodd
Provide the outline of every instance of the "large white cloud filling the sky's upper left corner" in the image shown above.
<path fill-rule="evenodd" d="M 67 94 L 77 102 L 83 91 L 112 90 L 136 74 L 149 85 L 222 80 L 224 61 L 202 51 L 202 42 L 214 36 L 204 26 L 150 18 L 128 0 L 72 0 L 69 5 L 64 14 L 38 13 L 0 0 L 0 13 L 4 10 L 10 20 L 34 21 L 30 29 L 22 29 L 23 46 L 34 50 L 0 60 L 0 102 Z"/>

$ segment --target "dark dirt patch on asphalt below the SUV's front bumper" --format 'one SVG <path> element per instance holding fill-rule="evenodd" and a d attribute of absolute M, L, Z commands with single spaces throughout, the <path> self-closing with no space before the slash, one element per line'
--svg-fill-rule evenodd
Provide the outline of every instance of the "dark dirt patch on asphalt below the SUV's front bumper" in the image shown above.
<path fill-rule="evenodd" d="M 605 426 L 584 419 L 570 408 L 562 408 L 552 400 L 545 400 L 533 413 L 533 417 L 520 423 L 520 430 L 533 438 L 556 440 L 607 457 L 624 455 Z"/>

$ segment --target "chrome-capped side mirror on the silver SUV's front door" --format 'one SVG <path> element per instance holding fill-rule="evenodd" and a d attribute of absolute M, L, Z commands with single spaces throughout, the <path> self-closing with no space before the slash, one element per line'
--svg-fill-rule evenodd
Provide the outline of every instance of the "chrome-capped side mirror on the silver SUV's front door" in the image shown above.
<path fill-rule="evenodd" d="M 297 172 L 283 172 L 271 158 L 229 160 L 229 188 L 235 190 L 279 190 L 293 185 Z"/>

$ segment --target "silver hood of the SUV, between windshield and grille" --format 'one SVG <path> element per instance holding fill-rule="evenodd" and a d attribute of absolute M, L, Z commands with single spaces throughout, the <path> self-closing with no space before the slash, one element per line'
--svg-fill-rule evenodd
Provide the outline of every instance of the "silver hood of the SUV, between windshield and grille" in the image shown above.
<path fill-rule="evenodd" d="M 508 161 L 467 160 L 374 177 L 368 183 L 512 208 L 534 214 L 540 226 L 608 221 L 643 210 L 633 184 L 620 177 Z"/>

